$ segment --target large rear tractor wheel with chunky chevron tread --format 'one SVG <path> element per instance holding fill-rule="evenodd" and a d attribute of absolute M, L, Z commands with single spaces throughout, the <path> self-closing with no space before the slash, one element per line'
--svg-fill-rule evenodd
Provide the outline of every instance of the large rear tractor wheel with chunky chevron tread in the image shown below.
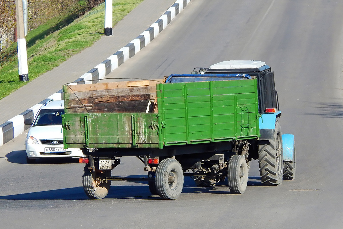
<path fill-rule="evenodd" d="M 269 144 L 258 147 L 260 177 L 263 185 L 280 185 L 283 176 L 282 137 L 279 121 L 275 122 L 275 132 Z"/>

